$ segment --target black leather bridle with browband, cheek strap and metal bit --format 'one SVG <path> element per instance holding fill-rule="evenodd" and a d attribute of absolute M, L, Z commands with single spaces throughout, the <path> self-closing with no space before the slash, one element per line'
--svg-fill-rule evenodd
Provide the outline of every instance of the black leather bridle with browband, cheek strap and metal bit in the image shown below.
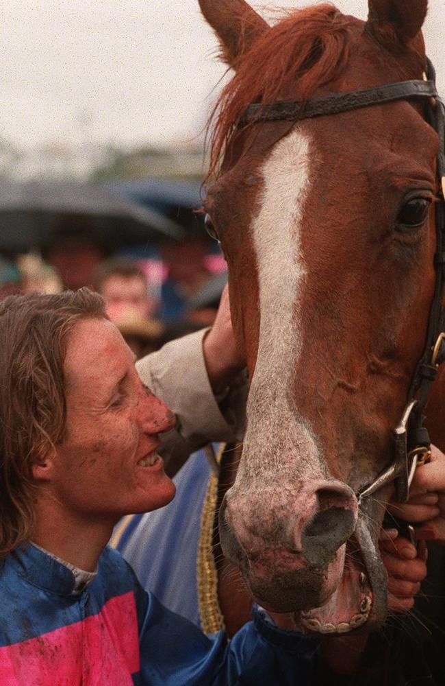
<path fill-rule="evenodd" d="M 445 315 L 442 312 L 445 284 L 445 107 L 437 94 L 435 70 L 427 60 L 427 73 L 423 81 L 402 81 L 305 101 L 252 104 L 244 110 L 238 121 L 238 127 L 259 121 L 298 121 L 411 99 L 427 99 L 426 119 L 439 137 L 437 176 L 440 182 L 440 196 L 435 203 L 435 291 L 429 311 L 424 350 L 411 379 L 401 422 L 394 429 L 394 461 L 371 484 L 359 490 L 359 504 L 394 480 L 398 501 L 406 502 L 409 499 L 409 487 L 416 467 L 425 462 L 431 454 L 429 434 L 424 427 L 424 408 L 431 384 L 437 378 L 439 366 L 445 361 Z"/>

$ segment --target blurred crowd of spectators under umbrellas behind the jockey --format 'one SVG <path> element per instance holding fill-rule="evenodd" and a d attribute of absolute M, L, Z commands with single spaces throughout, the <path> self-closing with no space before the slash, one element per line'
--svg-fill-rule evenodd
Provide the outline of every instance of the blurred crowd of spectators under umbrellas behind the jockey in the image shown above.
<path fill-rule="evenodd" d="M 142 357 L 216 316 L 225 262 L 201 220 L 185 228 L 181 240 L 111 252 L 88 217 L 65 219 L 37 252 L 0 252 L 0 299 L 88 286 L 103 296 L 107 315 Z"/>

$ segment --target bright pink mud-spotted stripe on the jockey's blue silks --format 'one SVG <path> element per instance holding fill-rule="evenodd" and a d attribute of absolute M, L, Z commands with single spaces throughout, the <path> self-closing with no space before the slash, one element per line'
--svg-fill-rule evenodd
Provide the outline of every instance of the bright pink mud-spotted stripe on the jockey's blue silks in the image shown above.
<path fill-rule="evenodd" d="M 131 592 L 83 622 L 0 648 L 1 686 L 130 686 L 139 669 Z"/>

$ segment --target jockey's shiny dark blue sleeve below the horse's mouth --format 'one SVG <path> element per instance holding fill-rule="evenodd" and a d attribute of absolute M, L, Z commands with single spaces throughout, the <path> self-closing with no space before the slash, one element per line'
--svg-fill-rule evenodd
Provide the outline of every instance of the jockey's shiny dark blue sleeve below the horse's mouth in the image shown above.
<path fill-rule="evenodd" d="M 151 686 L 309 686 L 318 640 L 275 627 L 259 609 L 228 643 L 205 636 L 148 595 L 140 630 L 141 683 Z"/>

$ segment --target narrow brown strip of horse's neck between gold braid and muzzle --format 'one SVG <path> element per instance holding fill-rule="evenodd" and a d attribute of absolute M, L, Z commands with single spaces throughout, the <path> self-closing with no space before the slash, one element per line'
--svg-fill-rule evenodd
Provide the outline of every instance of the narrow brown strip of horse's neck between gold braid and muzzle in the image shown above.
<path fill-rule="evenodd" d="M 224 615 L 229 636 L 249 622 L 252 597 L 247 591 L 238 568 L 225 558 L 218 536 L 218 512 L 226 491 L 233 485 L 241 457 L 242 446 L 229 448 L 223 453 L 218 484 L 218 503 L 214 525 L 214 558 L 218 570 L 218 600 Z"/>

